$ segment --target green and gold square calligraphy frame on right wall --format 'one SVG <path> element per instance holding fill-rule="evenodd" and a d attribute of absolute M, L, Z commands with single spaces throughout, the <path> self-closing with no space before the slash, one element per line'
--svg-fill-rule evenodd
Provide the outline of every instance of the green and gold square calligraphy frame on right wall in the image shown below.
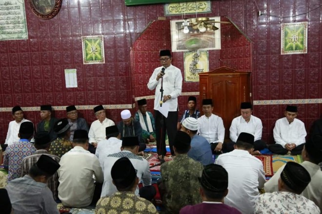
<path fill-rule="evenodd" d="M 281 54 L 307 53 L 307 22 L 281 25 Z"/>

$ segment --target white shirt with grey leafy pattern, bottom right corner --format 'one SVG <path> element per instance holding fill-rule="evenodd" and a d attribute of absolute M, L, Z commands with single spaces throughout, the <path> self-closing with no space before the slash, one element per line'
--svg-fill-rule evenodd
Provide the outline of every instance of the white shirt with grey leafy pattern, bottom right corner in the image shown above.
<path fill-rule="evenodd" d="M 320 214 L 313 201 L 290 192 L 264 193 L 255 205 L 255 214 Z"/>

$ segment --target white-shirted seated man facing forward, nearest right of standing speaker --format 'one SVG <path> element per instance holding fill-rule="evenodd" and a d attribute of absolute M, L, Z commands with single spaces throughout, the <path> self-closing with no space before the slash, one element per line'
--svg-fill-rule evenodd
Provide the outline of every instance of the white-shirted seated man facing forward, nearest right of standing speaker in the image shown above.
<path fill-rule="evenodd" d="M 225 151 L 226 143 L 223 143 L 225 138 L 225 128 L 221 117 L 212 113 L 214 106 L 212 99 L 202 100 L 202 111 L 204 115 L 198 118 L 198 133 L 207 139 L 211 145 L 213 154 Z"/>

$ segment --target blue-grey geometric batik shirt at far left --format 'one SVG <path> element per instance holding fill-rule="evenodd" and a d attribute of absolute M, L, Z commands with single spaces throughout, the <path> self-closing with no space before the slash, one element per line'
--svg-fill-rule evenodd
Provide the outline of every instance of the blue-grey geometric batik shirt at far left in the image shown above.
<path fill-rule="evenodd" d="M 8 167 L 8 182 L 20 178 L 22 160 L 34 154 L 36 148 L 34 144 L 26 139 L 20 139 L 18 144 L 12 144 L 5 150 L 3 165 Z"/>

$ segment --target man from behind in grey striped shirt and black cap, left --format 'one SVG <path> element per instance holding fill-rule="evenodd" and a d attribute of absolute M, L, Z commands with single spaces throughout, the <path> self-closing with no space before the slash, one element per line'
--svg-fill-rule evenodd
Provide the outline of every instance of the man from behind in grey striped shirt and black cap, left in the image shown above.
<path fill-rule="evenodd" d="M 41 155 L 47 155 L 56 162 L 60 161 L 60 158 L 56 155 L 49 154 L 48 150 L 50 147 L 50 137 L 47 131 L 37 132 L 35 136 L 35 143 L 34 143 L 37 151 L 22 160 L 22 169 L 21 169 L 21 177 L 28 174 L 30 168 L 39 160 Z M 58 174 L 55 174 L 48 179 L 47 183 L 48 188 L 53 193 L 54 199 L 58 199 Z"/>

